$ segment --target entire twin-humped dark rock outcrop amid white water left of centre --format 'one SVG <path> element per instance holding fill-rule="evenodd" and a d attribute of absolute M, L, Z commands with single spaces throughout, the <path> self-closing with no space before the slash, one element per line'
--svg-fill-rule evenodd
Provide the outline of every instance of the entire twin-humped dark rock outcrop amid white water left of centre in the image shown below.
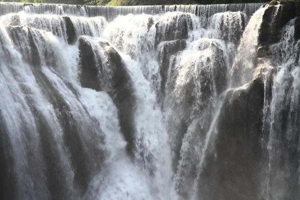
<path fill-rule="evenodd" d="M 132 82 L 118 52 L 107 42 L 100 41 L 97 47 L 101 49 L 101 55 L 95 54 L 100 52 L 93 50 L 91 43 L 86 38 L 79 38 L 80 83 L 83 87 L 105 91 L 112 98 L 118 108 L 119 123 L 127 141 L 127 151 L 133 156 L 135 97 Z"/>

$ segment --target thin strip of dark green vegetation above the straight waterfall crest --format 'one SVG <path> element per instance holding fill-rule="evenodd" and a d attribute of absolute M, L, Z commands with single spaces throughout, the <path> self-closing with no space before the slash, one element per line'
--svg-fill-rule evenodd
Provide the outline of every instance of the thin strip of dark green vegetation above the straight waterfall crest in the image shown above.
<path fill-rule="evenodd" d="M 249 3 L 267 0 L 1 0 L 5 2 L 28 3 L 66 3 L 81 5 L 167 5 L 167 4 L 212 4 L 212 3 Z"/>

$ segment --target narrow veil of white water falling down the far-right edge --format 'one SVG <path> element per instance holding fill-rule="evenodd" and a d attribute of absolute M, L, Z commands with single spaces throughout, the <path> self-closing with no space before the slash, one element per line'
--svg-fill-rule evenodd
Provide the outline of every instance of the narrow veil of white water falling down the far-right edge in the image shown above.
<path fill-rule="evenodd" d="M 290 193 L 290 186 L 299 182 L 299 169 L 291 164 L 298 162 L 298 156 L 290 157 L 289 152 L 299 152 L 298 138 L 298 85 L 299 85 L 299 42 L 294 39 L 294 23 L 290 20 L 281 33 L 280 42 L 274 44 L 271 50 L 280 50 L 282 57 L 274 57 L 272 65 L 277 65 L 274 75 L 272 95 L 265 120 L 269 123 L 267 158 L 262 195 L 265 199 L 284 199 L 286 196 L 297 196 Z M 282 117 L 286 117 L 286 122 Z M 286 125 L 284 125 L 286 123 Z M 286 149 L 283 150 L 283 149 Z M 293 160 L 293 161 L 291 161 Z M 290 194 L 289 194 L 290 193 Z"/>

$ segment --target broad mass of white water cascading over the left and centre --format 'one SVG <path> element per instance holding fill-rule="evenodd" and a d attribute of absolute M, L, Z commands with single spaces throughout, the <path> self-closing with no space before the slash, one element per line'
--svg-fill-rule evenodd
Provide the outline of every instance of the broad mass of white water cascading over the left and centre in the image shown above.
<path fill-rule="evenodd" d="M 250 80 L 264 9 L 255 12 L 247 25 L 249 16 L 241 12 L 243 10 L 211 13 L 206 25 L 195 14 L 182 12 L 194 12 L 195 7 L 177 9 L 180 12 L 120 15 L 109 22 L 101 16 L 70 16 L 76 39 L 81 36 L 89 41 L 95 55 L 93 61 L 98 65 L 101 62 L 103 74 L 107 75 L 103 80 L 113 79 L 108 64 L 112 58 L 105 53 L 109 48 L 115 48 L 124 62 L 135 96 L 133 157 L 126 152 L 127 143 L 114 96 L 109 96 L 108 91 L 81 86 L 78 42 L 68 44 L 67 23 L 61 15 L 56 15 L 67 12 L 62 8 L 56 10 L 56 14 L 22 10 L 1 16 L 0 89 L 3 92 L 0 101 L 5 103 L 0 104 L 0 119 L 4 119 L 1 123 L 7 128 L 12 145 L 17 199 L 25 194 L 25 199 L 52 195 L 41 150 L 37 122 L 40 117 L 47 124 L 53 138 L 51 145 L 58 152 L 55 166 L 59 166 L 65 186 L 65 193 L 60 197 L 198 198 L 198 179 L 217 134 L 216 123 L 221 111 L 219 95 L 231 84 L 228 74 L 236 75 L 232 74 L 234 67 L 239 67 L 239 73 L 245 75 L 237 74 L 241 79 L 238 83 Z M 219 9 L 226 10 L 225 7 Z M 88 14 L 82 11 L 72 15 Z M 17 23 L 15 17 L 19 17 Z M 159 39 L 157 23 L 162 33 Z M 182 25 L 187 28 L 182 30 Z M 185 42 L 185 47 L 165 49 L 177 39 Z M 111 46 L 103 48 L 99 44 L 102 41 Z M 27 53 L 37 56 L 40 62 L 27 63 L 30 62 L 26 60 Z M 162 57 L 167 59 L 165 77 L 161 75 L 161 65 L 165 64 Z M 249 70 L 236 64 L 241 57 Z M 163 78 L 166 78 L 164 91 Z M 107 90 L 115 89 L 113 83 L 105 82 Z M 65 144 L 67 123 L 64 120 L 70 121 L 69 137 L 79 138 L 75 149 L 80 149 L 83 157 L 86 155 L 85 167 L 90 174 L 86 175 L 89 182 L 84 194 L 80 194 L 81 188 L 76 182 L 78 169 L 73 160 L 77 155 L 74 158 L 72 151 L 75 150 Z M 26 145 L 28 141 L 30 145 Z M 30 184 L 24 186 L 26 182 Z"/>

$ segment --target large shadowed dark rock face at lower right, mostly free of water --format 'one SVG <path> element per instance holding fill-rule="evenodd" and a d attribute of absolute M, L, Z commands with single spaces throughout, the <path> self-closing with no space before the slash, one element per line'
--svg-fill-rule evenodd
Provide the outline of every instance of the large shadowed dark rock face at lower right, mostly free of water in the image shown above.
<path fill-rule="evenodd" d="M 264 86 L 259 80 L 226 94 L 215 154 L 206 157 L 199 178 L 200 198 L 258 199 L 263 100 Z"/>

